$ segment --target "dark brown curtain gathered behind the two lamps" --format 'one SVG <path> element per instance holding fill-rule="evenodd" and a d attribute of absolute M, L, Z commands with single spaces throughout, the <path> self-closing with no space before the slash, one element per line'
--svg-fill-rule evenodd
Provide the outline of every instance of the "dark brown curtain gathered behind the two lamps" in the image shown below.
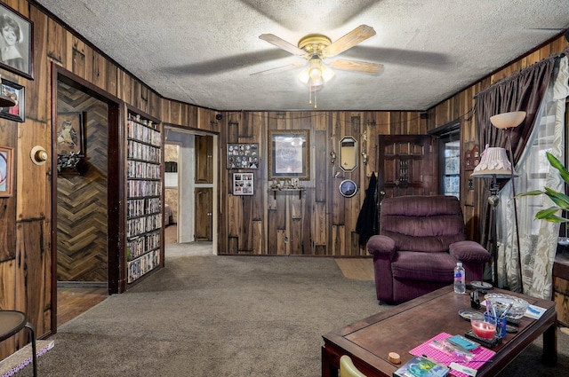
<path fill-rule="evenodd" d="M 527 67 L 516 75 L 495 83 L 486 90 L 480 91 L 476 96 L 475 114 L 477 122 L 477 144 L 480 150 L 489 146 L 506 146 L 505 132 L 493 127 L 490 117 L 495 114 L 508 113 L 511 111 L 525 111 L 525 121 L 517 128 L 510 130 L 511 145 L 514 145 L 514 161 L 519 160 L 524 151 L 528 136 L 533 130 L 535 117 L 540 109 L 541 99 L 549 85 L 549 80 L 555 59 L 545 59 Z M 488 204 L 490 192 L 488 182 L 477 182 L 477 202 L 480 208 L 480 244 L 492 253 L 493 245 L 490 240 L 490 216 L 491 208 Z"/>

